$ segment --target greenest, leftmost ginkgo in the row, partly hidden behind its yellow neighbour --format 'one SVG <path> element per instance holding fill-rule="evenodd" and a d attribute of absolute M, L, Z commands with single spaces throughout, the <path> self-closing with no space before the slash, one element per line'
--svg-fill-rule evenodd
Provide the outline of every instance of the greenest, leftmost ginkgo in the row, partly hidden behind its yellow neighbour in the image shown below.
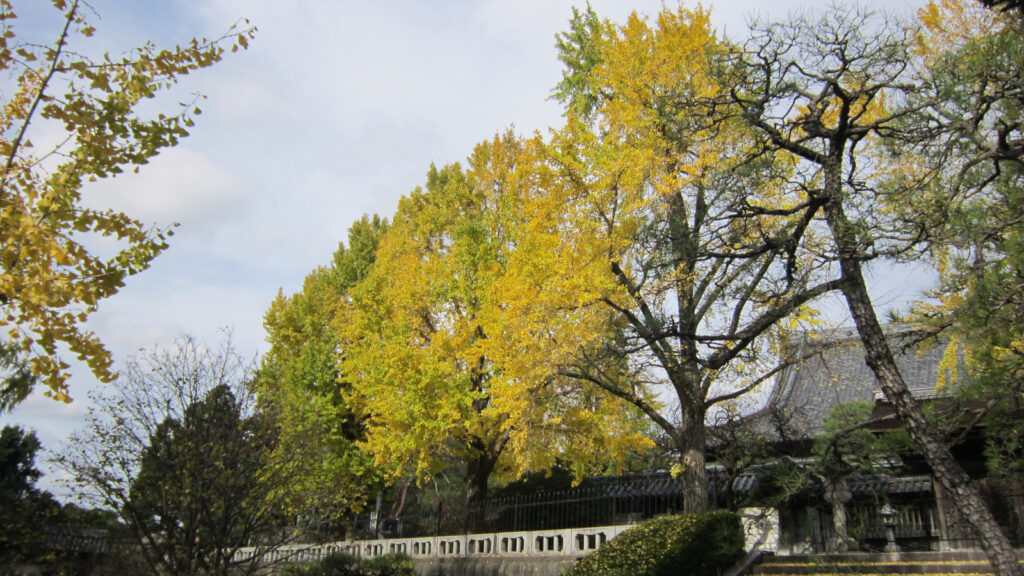
<path fill-rule="evenodd" d="M 344 398 L 349 384 L 340 379 L 345 358 L 337 324 L 387 228 L 377 216 L 352 223 L 348 245 L 339 245 L 331 264 L 306 276 L 299 292 L 279 294 L 263 317 L 270 349 L 253 386 L 279 428 L 270 464 L 293 479 L 282 489 L 292 511 L 306 518 L 357 508 L 381 483 L 356 446 L 362 424 Z"/>

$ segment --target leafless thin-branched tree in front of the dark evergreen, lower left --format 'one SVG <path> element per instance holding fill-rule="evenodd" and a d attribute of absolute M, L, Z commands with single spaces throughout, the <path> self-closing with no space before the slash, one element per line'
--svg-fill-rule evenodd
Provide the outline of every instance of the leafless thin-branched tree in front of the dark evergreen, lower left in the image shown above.
<path fill-rule="evenodd" d="M 273 436 L 252 411 L 251 368 L 229 339 L 207 348 L 182 336 L 140 355 L 56 456 L 84 499 L 117 511 L 154 573 L 254 573 L 287 536 L 274 530 Z"/>

